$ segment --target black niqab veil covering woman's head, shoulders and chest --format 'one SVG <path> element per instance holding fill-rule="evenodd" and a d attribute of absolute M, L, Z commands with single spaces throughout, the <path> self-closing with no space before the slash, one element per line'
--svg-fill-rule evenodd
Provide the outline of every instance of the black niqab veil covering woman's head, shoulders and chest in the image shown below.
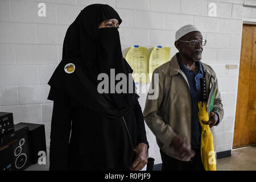
<path fill-rule="evenodd" d="M 117 28 L 98 29 L 101 22 L 114 18 L 121 24 L 121 18 L 109 5 L 94 4 L 81 10 L 67 30 L 63 43 L 63 59 L 48 82 L 53 88 L 64 90 L 81 105 L 110 118 L 125 115 L 138 96 L 134 91 L 134 82 L 133 93 L 100 94 L 97 90 L 99 73 L 106 73 L 110 82 L 111 68 L 115 69 L 115 75 L 124 73 L 127 80 L 129 73 L 133 72 L 122 57 Z M 64 67 L 68 63 L 75 64 L 73 73 L 65 73 Z M 128 86 L 127 82 L 127 90 Z M 49 95 L 48 98 L 54 100 L 52 97 Z"/>

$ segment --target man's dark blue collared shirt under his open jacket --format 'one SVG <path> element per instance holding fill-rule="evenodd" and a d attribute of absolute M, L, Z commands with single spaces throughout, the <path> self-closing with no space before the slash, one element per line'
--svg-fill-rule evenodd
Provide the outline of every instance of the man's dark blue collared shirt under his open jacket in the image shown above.
<path fill-rule="evenodd" d="M 204 77 L 204 72 L 202 69 L 201 62 L 198 61 L 198 71 L 197 73 L 186 67 L 177 55 L 177 60 L 180 65 L 180 69 L 185 73 L 187 77 L 190 94 L 191 94 L 191 146 L 192 148 L 200 148 L 201 144 L 201 126 L 198 119 L 198 105 L 197 102 L 201 100 L 200 94 L 200 78 Z"/>

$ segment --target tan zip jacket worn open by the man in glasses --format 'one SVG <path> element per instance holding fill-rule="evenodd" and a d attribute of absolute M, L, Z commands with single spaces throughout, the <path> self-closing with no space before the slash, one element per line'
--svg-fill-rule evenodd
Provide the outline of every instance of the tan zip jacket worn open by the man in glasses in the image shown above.
<path fill-rule="evenodd" d="M 205 73 L 208 96 L 209 84 L 212 84 L 213 81 L 217 82 L 217 77 L 209 65 L 204 63 L 201 65 Z M 156 68 L 154 73 L 159 73 L 159 96 L 155 100 L 150 100 L 148 96 L 152 90 L 148 92 L 143 116 L 148 127 L 155 134 L 159 148 L 167 155 L 181 160 L 170 144 L 177 134 L 191 144 L 191 95 L 188 80 L 180 70 L 176 55 L 172 57 L 171 61 Z M 150 85 L 154 89 L 152 83 L 154 83 L 154 76 Z M 213 111 L 218 114 L 218 123 L 220 123 L 224 110 L 218 88 Z M 188 161 L 189 159 L 184 160 Z"/>

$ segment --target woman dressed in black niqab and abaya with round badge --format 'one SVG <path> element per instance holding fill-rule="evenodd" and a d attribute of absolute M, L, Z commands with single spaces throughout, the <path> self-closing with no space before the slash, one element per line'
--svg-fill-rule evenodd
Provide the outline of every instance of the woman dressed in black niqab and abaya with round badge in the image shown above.
<path fill-rule="evenodd" d="M 133 72 L 122 57 L 117 28 L 99 28 L 108 19 L 122 22 L 108 5 L 87 6 L 65 35 L 63 59 L 48 82 L 48 99 L 54 101 L 50 170 L 131 169 L 143 155 L 140 149 L 148 146 L 134 82 L 127 82 L 130 93 L 97 90 L 98 74 L 105 73 L 110 82 L 114 69 L 115 75 L 123 73 L 128 81 Z M 70 64 L 74 69 L 67 72 Z"/>

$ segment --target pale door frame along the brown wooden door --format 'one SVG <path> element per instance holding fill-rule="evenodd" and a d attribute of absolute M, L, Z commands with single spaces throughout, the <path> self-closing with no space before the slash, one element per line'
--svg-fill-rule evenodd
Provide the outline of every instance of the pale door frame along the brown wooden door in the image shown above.
<path fill-rule="evenodd" d="M 255 25 L 256 26 L 256 19 L 255 18 L 243 18 L 242 21 L 243 21 L 242 28 L 243 28 L 243 24 L 251 24 L 251 25 Z M 241 45 L 240 46 L 242 47 L 242 33 L 241 33 Z M 238 95 L 238 82 L 239 82 L 240 61 L 241 61 L 241 47 L 240 47 L 240 60 L 239 60 L 239 64 L 238 64 L 237 95 Z M 232 154 L 232 151 L 233 151 L 234 126 L 235 126 L 235 123 L 236 123 L 236 111 L 237 111 L 237 96 L 236 96 L 236 105 L 235 105 L 234 122 L 233 122 L 233 135 L 232 135 L 231 154 Z M 245 147 L 245 146 L 243 146 L 243 147 Z"/>

